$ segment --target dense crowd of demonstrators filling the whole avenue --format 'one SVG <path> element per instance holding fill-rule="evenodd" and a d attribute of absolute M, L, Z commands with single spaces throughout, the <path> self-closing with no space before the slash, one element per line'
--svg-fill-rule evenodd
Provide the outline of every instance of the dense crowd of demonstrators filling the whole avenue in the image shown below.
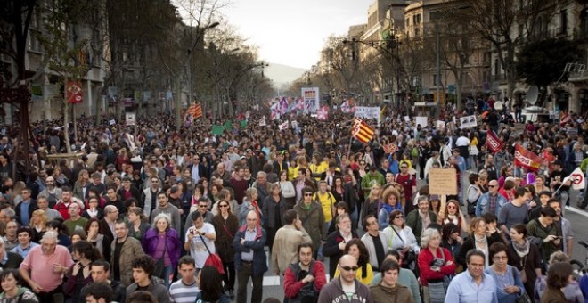
<path fill-rule="evenodd" d="M 260 127 L 264 113 L 222 135 L 205 119 L 176 129 L 164 116 L 136 126 L 82 118 L 77 135 L 66 126 L 76 158 L 59 155 L 64 127 L 45 121 L 33 126 L 29 169 L 5 128 L 0 298 L 258 303 L 270 269 L 283 302 L 588 298 L 588 281 L 572 278 L 562 214 L 573 202 L 566 177 L 588 166 L 583 117 L 438 129 L 387 109 L 363 144 L 352 114 L 290 117 L 297 123 L 280 129 Z M 505 144 L 492 153 L 494 128 Z M 514 166 L 514 143 L 540 154 L 540 168 Z M 459 193 L 430 194 L 433 168 L 454 168 Z"/>

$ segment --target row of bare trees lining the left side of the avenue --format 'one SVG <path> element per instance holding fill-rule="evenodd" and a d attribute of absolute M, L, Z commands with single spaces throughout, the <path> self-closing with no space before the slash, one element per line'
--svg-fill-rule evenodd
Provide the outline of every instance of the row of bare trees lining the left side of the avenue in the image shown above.
<path fill-rule="evenodd" d="M 64 98 L 65 84 L 101 69 L 102 94 L 108 94 L 110 86 L 118 88 L 114 100 L 118 115 L 123 98 L 140 92 L 143 99 L 143 92 L 151 91 L 157 100 L 158 92 L 170 90 L 178 124 L 179 111 L 186 106 L 181 96 L 189 92 L 192 95 L 185 99 L 202 102 L 204 111 L 215 117 L 241 111 L 244 103 L 272 95 L 273 90 L 263 77 L 257 49 L 223 20 L 226 4 L 225 0 L 2 1 L 0 53 L 12 60 L 2 66 L 2 86 L 18 86 L 17 79 L 32 83 L 45 78 L 61 87 L 58 99 L 66 125 L 72 110 Z M 33 36 L 42 61 L 37 70 L 24 70 L 27 38 Z M 45 99 L 44 111 L 50 111 Z M 138 114 L 144 114 L 146 103 L 137 103 Z M 100 108 L 101 102 L 95 104 L 97 113 L 108 110 Z"/>

